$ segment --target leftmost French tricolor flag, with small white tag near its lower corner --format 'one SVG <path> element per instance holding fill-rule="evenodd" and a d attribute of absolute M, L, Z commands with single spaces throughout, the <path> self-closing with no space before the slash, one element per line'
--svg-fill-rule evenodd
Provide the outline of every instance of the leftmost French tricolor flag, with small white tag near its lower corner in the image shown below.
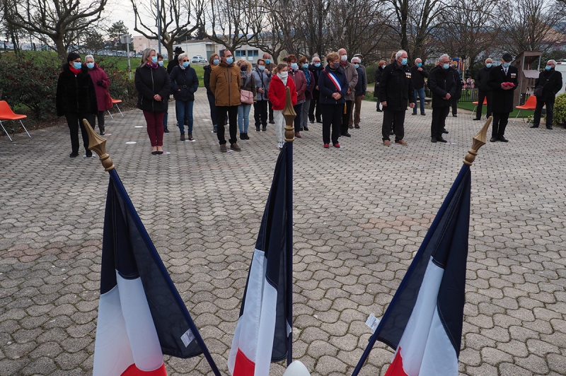
<path fill-rule="evenodd" d="M 93 375 L 167 375 L 163 354 L 209 353 L 120 178 L 109 173 Z"/>

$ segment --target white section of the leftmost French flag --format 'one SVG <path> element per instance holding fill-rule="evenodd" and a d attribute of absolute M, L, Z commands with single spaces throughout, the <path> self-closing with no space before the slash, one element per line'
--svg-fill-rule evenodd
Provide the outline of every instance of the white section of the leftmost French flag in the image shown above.
<path fill-rule="evenodd" d="M 163 353 L 140 278 L 116 272 L 117 286 L 100 295 L 93 376 L 121 375 L 135 363 L 149 372 L 163 365 Z"/>

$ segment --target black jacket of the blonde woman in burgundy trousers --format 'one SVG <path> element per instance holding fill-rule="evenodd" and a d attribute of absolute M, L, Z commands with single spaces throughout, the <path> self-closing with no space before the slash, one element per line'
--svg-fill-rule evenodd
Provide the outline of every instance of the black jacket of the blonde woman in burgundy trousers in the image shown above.
<path fill-rule="evenodd" d="M 166 112 L 169 95 L 169 76 L 165 69 L 153 69 L 146 64 L 138 66 L 134 78 L 137 89 L 137 107 L 149 112 Z M 161 100 L 154 100 L 159 94 Z"/>

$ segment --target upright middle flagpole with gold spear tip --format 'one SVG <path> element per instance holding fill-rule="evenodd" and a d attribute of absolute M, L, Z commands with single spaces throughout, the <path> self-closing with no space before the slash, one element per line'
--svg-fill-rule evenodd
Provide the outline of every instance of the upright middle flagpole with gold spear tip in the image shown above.
<path fill-rule="evenodd" d="M 283 116 L 285 117 L 285 145 L 287 148 L 287 241 L 285 242 L 285 251 L 287 252 L 287 324 L 291 332 L 287 338 L 288 351 L 287 351 L 287 367 L 293 363 L 293 141 L 294 141 L 294 127 L 293 121 L 296 117 L 296 112 L 291 102 L 291 90 L 286 88 L 286 101 L 283 109 Z"/>

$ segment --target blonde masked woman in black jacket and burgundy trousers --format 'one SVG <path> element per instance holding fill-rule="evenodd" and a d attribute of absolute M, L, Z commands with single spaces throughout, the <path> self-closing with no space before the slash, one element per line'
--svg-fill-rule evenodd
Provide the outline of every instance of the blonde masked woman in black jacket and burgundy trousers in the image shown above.
<path fill-rule="evenodd" d="M 146 48 L 141 54 L 141 65 L 134 79 L 137 89 L 137 107 L 144 112 L 151 154 L 163 154 L 163 115 L 167 111 L 169 76 L 157 64 L 155 49 Z"/>

